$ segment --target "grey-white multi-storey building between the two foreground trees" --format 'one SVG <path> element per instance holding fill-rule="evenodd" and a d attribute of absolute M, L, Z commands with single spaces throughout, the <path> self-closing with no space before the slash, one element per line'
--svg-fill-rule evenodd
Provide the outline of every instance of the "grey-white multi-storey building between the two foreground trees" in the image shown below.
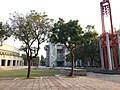
<path fill-rule="evenodd" d="M 45 46 L 46 50 L 46 66 L 48 67 L 62 67 L 66 66 L 65 55 L 68 50 L 62 44 L 49 43 Z"/>

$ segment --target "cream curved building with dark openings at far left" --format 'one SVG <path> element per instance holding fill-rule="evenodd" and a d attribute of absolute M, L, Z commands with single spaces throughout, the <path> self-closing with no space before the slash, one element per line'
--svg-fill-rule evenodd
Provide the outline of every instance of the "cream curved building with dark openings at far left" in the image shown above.
<path fill-rule="evenodd" d="M 22 66 L 23 59 L 20 57 L 18 48 L 3 44 L 0 46 L 0 66 Z"/>

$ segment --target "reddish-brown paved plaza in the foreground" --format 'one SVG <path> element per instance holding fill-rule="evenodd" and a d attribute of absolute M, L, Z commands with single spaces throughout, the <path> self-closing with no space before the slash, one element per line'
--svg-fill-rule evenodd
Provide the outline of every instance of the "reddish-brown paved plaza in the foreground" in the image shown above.
<path fill-rule="evenodd" d="M 120 83 L 93 78 L 90 75 L 92 73 L 77 78 L 0 79 L 0 90 L 120 90 Z"/>

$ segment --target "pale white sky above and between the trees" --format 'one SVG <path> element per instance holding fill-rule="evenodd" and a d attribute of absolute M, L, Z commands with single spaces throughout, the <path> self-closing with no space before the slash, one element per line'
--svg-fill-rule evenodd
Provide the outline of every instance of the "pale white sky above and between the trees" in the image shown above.
<path fill-rule="evenodd" d="M 86 25 L 95 25 L 99 34 L 101 30 L 100 2 L 102 0 L 1 0 L 0 1 L 0 21 L 9 21 L 9 13 L 14 11 L 22 14 L 29 13 L 30 10 L 45 12 L 49 18 L 55 21 L 63 18 L 66 22 L 70 19 L 79 20 L 84 28 Z M 119 28 L 120 25 L 120 0 L 110 0 L 113 26 Z M 21 43 L 9 38 L 4 43 L 19 48 Z M 45 56 L 44 45 L 41 45 L 39 55 Z M 42 52 L 42 53 L 41 53 Z"/>

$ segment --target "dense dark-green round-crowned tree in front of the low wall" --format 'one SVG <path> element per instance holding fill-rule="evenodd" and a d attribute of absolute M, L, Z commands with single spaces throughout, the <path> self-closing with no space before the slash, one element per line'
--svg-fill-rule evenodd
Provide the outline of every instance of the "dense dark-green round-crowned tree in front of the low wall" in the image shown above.
<path fill-rule="evenodd" d="M 66 46 L 71 55 L 71 73 L 69 76 L 73 76 L 74 72 L 74 50 L 77 45 L 81 44 L 83 31 L 78 24 L 78 20 L 65 21 L 59 18 L 59 21 L 54 24 L 49 35 L 50 42 L 61 43 Z"/>

